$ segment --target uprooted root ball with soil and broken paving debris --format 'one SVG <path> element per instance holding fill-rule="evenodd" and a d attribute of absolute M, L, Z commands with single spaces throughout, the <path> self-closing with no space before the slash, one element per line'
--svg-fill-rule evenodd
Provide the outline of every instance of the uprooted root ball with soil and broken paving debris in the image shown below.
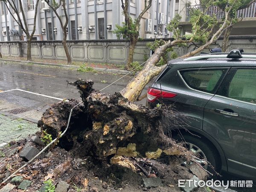
<path fill-rule="evenodd" d="M 1 182 L 44 148 L 38 138 L 44 145 L 58 138 L 56 145 L 16 174 L 12 184 L 0 186 L 0 192 L 7 187 L 13 192 L 180 192 L 184 189 L 177 186 L 178 179 L 206 179 L 200 166 L 184 166 L 184 159 L 192 160 L 192 155 L 166 136 L 166 119 L 175 116 L 168 108 L 149 109 L 120 93 L 101 93 L 90 80 L 72 84 L 83 105 L 73 99 L 52 105 L 38 122 L 41 131 L 2 149 L 10 155 L 0 157 Z M 60 137 L 76 105 L 67 132 Z"/>

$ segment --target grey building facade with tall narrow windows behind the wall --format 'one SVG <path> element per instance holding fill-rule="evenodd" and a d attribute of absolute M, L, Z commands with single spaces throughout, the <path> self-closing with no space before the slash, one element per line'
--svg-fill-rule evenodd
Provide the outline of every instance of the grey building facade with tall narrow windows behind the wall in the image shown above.
<path fill-rule="evenodd" d="M 18 5 L 18 0 L 15 0 Z M 26 21 L 32 31 L 37 0 L 22 0 Z M 63 32 L 55 13 L 49 9 L 44 0 L 39 0 L 36 31 L 33 40 L 61 40 Z M 69 23 L 67 26 L 68 40 L 116 39 L 113 30 L 116 24 L 122 25 L 121 0 L 66 0 Z M 144 0 L 129 0 L 129 13 L 136 18 L 144 8 Z M 153 0 L 151 8 L 141 19 L 140 38 L 168 38 L 171 33 L 166 25 L 178 12 L 179 0 Z M 20 7 L 19 7 L 20 9 Z M 12 10 L 11 10 L 12 11 Z M 58 9 L 58 14 L 64 11 Z M 21 29 L 8 12 L 5 4 L 0 4 L 0 41 L 26 40 Z M 15 14 L 14 14 L 15 15 Z M 13 35 L 16 29 L 21 38 Z"/>

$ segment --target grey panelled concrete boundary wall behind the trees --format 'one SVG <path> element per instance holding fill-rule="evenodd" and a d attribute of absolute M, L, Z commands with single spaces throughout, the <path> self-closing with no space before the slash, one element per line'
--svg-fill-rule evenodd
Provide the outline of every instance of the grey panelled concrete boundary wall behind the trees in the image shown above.
<path fill-rule="evenodd" d="M 165 39 L 168 40 L 168 39 Z M 134 52 L 134 61 L 144 62 L 145 56 L 150 56 L 150 49 L 146 47 L 148 42 L 154 39 L 147 39 L 137 43 Z M 220 47 L 222 39 L 220 38 L 209 49 Z M 79 40 L 67 41 L 68 49 L 73 61 L 126 64 L 129 52 L 129 41 L 119 40 Z M 198 43 L 198 46 L 201 44 Z M 243 48 L 245 52 L 256 52 L 256 35 L 252 36 L 231 36 L 229 48 Z M 175 47 L 178 55 L 184 55 L 193 51 L 195 45 L 189 44 L 188 47 Z M 205 49 L 205 52 L 209 52 Z M 25 41 L 0 42 L 0 51 L 3 56 L 26 57 Z M 45 59 L 66 60 L 66 55 L 61 41 L 33 41 L 32 57 Z"/>

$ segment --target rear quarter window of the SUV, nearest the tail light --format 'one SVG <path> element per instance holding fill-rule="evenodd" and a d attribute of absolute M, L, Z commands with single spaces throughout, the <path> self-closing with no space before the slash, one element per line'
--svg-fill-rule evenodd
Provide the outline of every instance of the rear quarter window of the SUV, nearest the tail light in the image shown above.
<path fill-rule="evenodd" d="M 215 93 L 227 69 L 200 69 L 180 71 L 189 87 L 207 93 Z"/>

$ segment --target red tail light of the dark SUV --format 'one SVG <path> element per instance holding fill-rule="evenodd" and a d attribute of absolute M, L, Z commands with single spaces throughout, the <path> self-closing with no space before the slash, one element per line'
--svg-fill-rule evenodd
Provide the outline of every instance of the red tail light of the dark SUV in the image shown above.
<path fill-rule="evenodd" d="M 147 97 L 149 102 L 154 102 L 159 98 L 173 98 L 177 96 L 176 93 L 171 93 L 159 89 L 148 88 Z"/>

